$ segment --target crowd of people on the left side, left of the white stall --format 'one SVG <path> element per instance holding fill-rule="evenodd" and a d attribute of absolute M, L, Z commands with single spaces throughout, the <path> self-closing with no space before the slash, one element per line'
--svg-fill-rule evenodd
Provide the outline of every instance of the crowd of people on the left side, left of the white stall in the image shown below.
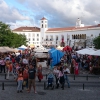
<path fill-rule="evenodd" d="M 41 65 L 36 68 L 36 58 L 34 55 L 30 54 L 20 54 L 18 56 L 11 55 L 9 53 L 2 54 L 0 57 L 0 73 L 6 73 L 6 79 L 9 80 L 10 74 L 14 76 L 15 81 L 17 82 L 17 93 L 23 92 L 23 85 L 26 87 L 28 92 L 31 91 L 31 86 L 35 89 L 35 78 L 36 78 L 36 70 L 40 71 Z M 38 75 L 40 76 L 40 72 L 38 71 Z M 39 79 L 40 81 L 40 79 Z"/>

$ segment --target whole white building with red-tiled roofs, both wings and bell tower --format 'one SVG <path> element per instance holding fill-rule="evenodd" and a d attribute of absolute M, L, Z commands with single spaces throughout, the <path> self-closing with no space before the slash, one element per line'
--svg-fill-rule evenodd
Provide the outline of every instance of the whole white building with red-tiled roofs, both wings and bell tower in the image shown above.
<path fill-rule="evenodd" d="M 94 26 L 85 26 L 78 18 L 76 26 L 65 28 L 48 28 L 48 20 L 40 20 L 38 27 L 20 27 L 13 32 L 24 34 L 28 40 L 28 45 L 37 46 L 93 46 L 93 39 L 100 35 L 100 24 Z"/>

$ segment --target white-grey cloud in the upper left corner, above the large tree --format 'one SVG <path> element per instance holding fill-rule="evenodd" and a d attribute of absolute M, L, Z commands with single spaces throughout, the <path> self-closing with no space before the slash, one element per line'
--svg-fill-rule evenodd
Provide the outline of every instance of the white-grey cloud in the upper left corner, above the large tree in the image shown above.
<path fill-rule="evenodd" d="M 28 16 L 23 16 L 18 9 L 9 7 L 7 3 L 0 0 L 0 20 L 6 23 L 16 22 L 17 20 L 30 20 Z"/>

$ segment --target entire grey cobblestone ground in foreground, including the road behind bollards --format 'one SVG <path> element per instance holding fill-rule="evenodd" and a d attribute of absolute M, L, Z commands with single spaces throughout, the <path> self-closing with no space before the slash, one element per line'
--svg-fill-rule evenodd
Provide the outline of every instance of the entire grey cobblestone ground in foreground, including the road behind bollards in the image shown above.
<path fill-rule="evenodd" d="M 47 69 L 43 69 L 43 71 L 45 74 L 49 72 Z M 87 74 L 85 73 L 84 75 Z M 36 82 L 37 94 L 34 94 L 33 89 L 30 93 L 27 93 L 25 88 L 23 93 L 17 93 L 16 82 L 6 82 L 6 84 L 11 83 L 15 85 L 5 86 L 5 90 L 2 90 L 2 86 L 0 84 L 0 100 L 100 100 L 99 76 L 92 77 L 91 75 L 91 77 L 88 77 L 88 80 L 87 77 L 79 76 L 76 76 L 75 80 L 73 76 L 69 76 L 71 88 L 67 88 L 67 85 L 65 84 L 64 90 L 61 88 L 44 90 L 43 84 L 44 81 L 46 81 L 46 78 L 44 77 L 41 83 Z M 0 80 L 5 80 L 4 75 L 0 74 Z M 12 76 L 10 76 L 10 80 L 14 80 Z M 85 85 L 84 88 L 83 83 Z"/>

